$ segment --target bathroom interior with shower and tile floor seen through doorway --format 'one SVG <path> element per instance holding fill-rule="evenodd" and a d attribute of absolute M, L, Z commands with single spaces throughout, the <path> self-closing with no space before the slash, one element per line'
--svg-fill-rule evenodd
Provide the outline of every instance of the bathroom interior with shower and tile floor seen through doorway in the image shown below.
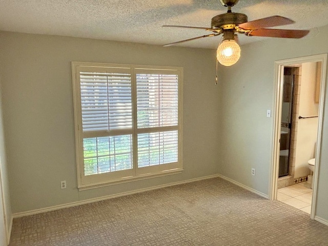
<path fill-rule="evenodd" d="M 277 199 L 311 213 L 321 63 L 284 67 Z"/>

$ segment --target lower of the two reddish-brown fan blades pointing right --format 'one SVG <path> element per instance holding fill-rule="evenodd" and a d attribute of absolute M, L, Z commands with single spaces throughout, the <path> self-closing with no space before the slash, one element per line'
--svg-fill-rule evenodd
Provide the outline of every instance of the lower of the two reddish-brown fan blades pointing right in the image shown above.
<path fill-rule="evenodd" d="M 286 38 L 301 38 L 306 36 L 309 30 L 288 30 L 288 29 L 257 29 L 246 35 L 260 37 L 286 37 Z"/>

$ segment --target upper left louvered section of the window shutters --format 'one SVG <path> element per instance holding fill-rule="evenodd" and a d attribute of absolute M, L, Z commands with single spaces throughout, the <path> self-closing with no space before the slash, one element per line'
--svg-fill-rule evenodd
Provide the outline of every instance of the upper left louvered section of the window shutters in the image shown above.
<path fill-rule="evenodd" d="M 83 132 L 132 128 L 131 74 L 80 72 Z"/>

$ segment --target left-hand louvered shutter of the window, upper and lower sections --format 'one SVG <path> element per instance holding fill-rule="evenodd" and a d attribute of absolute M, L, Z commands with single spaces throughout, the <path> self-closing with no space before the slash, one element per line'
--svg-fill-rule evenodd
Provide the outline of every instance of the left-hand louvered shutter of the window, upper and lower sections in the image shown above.
<path fill-rule="evenodd" d="M 79 72 L 85 176 L 132 169 L 130 69 L 103 70 Z"/>

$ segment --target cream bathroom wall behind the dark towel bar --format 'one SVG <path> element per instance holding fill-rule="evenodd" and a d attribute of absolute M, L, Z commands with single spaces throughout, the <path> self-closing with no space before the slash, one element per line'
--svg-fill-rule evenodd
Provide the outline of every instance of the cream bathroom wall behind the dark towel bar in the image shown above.
<path fill-rule="evenodd" d="M 298 113 L 302 117 L 318 115 L 319 104 L 315 102 L 316 81 L 317 63 L 303 63 Z M 308 160 L 314 158 L 317 133 L 318 118 L 298 120 L 294 178 L 310 174 Z"/>

